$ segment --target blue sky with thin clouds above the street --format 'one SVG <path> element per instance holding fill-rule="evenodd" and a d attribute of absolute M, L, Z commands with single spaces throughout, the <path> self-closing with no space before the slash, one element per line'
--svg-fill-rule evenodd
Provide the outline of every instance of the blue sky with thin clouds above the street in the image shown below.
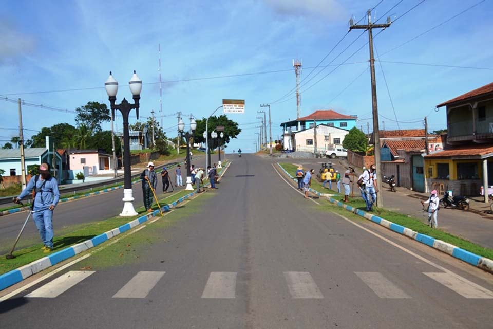
<path fill-rule="evenodd" d="M 396 20 L 375 38 L 382 61 L 493 68 L 493 1 L 486 0 L 456 19 L 414 38 L 480 0 L 427 0 L 400 17 L 421 0 L 384 0 L 373 11 L 373 20 L 387 15 Z M 159 118 L 158 44 L 161 44 L 163 127 L 176 136 L 181 111 L 197 118 L 210 115 L 223 98 L 245 99 L 245 114 L 230 115 L 243 132 L 229 151 L 254 150 L 259 104 L 271 103 L 295 86 L 292 59 L 303 63 L 301 115 L 316 109 L 334 109 L 358 115 L 358 126 L 366 131 L 370 122 L 371 90 L 368 46 L 349 59 L 347 65 L 312 72 L 348 31 L 348 21 L 365 16 L 378 0 L 257 0 L 257 1 L 10 1 L 0 13 L 0 97 L 18 97 L 35 104 L 73 111 L 88 101 L 109 105 L 104 81 L 109 71 L 120 83 L 118 101 L 131 98 L 125 86 L 137 70 L 144 86 L 141 117 L 154 108 Z M 386 16 L 387 16 L 386 15 Z M 382 22 L 385 17 L 380 21 Z M 366 22 L 363 20 L 361 24 Z M 379 22 L 379 23 L 380 23 Z M 362 30 L 351 31 L 321 66 L 344 62 L 368 41 L 365 33 L 334 60 Z M 374 31 L 374 35 L 378 31 Z M 387 53 L 386 53 L 387 52 Z M 384 54 L 385 53 L 385 54 Z M 375 53 L 376 57 L 376 53 Z M 444 109 L 434 106 L 492 82 L 491 70 L 423 66 L 381 62 L 394 112 L 379 63 L 376 63 L 379 121 L 385 129 L 421 128 L 428 116 L 429 130 L 446 127 Z M 366 70 L 365 70 L 366 68 Z M 207 77 L 258 75 L 194 80 Z M 361 76 L 360 76 L 361 75 Z M 358 77 L 356 79 L 356 77 Z M 308 77 L 308 78 L 305 78 Z M 356 80 L 355 80 L 356 79 Z M 179 81 L 190 80 L 190 81 Z M 342 94 L 337 96 L 352 83 Z M 173 81 L 173 82 L 169 82 Z M 313 85 L 313 86 L 312 86 Z M 81 89 L 38 93 L 52 90 Z M 306 89 L 306 90 L 305 90 Z M 7 96 L 6 96 L 7 95 Z M 294 94 L 293 94 L 294 95 Z M 335 97 L 337 96 L 337 97 Z M 292 95 L 272 104 L 273 139 L 281 134 L 280 122 L 296 117 Z M 0 144 L 16 135 L 17 105 L 0 101 Z M 387 119 L 389 118 L 389 119 Z M 136 119 L 131 118 L 131 122 Z M 67 122 L 72 113 L 23 107 L 27 129 Z M 410 123 L 406 123 L 410 122 Z M 121 130 L 121 119 L 116 120 Z M 109 123 L 103 126 L 109 129 Z M 35 132 L 27 131 L 27 138 Z"/>

